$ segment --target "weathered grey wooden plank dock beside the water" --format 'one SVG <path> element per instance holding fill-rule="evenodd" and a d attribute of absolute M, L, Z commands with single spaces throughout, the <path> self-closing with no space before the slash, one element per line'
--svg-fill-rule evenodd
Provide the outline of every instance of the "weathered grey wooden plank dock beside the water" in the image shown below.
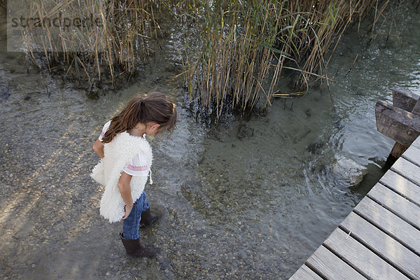
<path fill-rule="evenodd" d="M 420 137 L 290 279 L 420 279 Z"/>

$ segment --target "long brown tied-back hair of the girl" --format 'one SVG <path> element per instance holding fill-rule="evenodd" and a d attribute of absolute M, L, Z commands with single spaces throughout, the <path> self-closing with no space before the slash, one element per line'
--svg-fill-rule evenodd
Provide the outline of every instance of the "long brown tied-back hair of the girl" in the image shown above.
<path fill-rule="evenodd" d="M 138 123 L 158 123 L 161 130 L 173 132 L 176 106 L 162 92 L 151 92 L 146 97 L 133 97 L 123 111 L 111 119 L 102 142 L 109 143 L 117 134 L 132 130 Z"/>

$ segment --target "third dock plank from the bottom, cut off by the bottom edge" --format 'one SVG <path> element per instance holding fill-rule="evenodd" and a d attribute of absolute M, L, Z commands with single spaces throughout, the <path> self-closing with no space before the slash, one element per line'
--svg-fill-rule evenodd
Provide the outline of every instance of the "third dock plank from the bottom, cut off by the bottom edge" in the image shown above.
<path fill-rule="evenodd" d="M 360 272 L 363 272 L 370 279 L 408 279 L 356 239 L 353 239 L 353 237 L 347 238 L 346 232 L 339 228 L 332 232 L 330 237 L 324 241 L 324 244 L 342 256 L 346 262 L 358 267 Z"/>

